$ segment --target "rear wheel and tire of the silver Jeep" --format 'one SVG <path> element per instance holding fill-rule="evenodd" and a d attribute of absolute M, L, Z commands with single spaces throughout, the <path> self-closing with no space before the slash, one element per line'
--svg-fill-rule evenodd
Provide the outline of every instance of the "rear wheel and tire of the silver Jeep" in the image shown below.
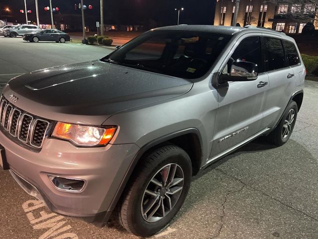
<path fill-rule="evenodd" d="M 285 144 L 293 132 L 297 114 L 297 104 L 295 101 L 291 101 L 276 128 L 267 136 L 269 141 L 277 146 Z"/>

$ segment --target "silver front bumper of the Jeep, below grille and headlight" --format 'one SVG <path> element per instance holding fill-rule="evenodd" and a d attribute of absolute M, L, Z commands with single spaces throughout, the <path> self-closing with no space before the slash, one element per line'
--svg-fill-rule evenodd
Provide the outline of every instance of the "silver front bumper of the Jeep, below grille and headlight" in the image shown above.
<path fill-rule="evenodd" d="M 33 152 L 11 141 L 1 131 L 0 144 L 5 148 L 15 180 L 34 187 L 33 193 L 28 192 L 30 195 L 44 201 L 53 212 L 75 217 L 94 217 L 109 210 L 139 149 L 136 144 L 77 148 L 67 141 L 48 138 L 40 152 Z M 79 178 L 86 183 L 81 192 L 60 191 L 51 183 L 49 174 Z"/>

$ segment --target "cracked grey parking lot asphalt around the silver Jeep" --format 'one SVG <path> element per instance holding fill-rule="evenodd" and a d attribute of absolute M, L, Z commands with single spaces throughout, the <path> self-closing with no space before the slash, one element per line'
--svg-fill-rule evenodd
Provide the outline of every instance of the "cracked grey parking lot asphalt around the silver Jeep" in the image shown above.
<path fill-rule="evenodd" d="M 105 50 L 0 37 L 0 74 L 92 60 L 106 55 Z M 256 139 L 200 172 L 177 217 L 152 238 L 317 239 L 317 102 L 318 83 L 307 81 L 290 140 L 274 147 L 263 138 Z M 46 214 L 50 212 L 43 204 L 0 170 L 1 239 L 136 238 L 114 220 L 103 228 L 55 214 L 37 220 Z"/>

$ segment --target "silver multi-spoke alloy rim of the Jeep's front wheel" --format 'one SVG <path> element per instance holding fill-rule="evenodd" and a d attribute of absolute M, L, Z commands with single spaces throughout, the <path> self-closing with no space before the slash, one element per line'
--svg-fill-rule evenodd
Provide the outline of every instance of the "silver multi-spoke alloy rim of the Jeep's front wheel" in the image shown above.
<path fill-rule="evenodd" d="M 184 182 L 182 168 L 170 163 L 157 171 L 149 181 L 141 202 L 145 221 L 155 223 L 164 218 L 178 202 Z"/>

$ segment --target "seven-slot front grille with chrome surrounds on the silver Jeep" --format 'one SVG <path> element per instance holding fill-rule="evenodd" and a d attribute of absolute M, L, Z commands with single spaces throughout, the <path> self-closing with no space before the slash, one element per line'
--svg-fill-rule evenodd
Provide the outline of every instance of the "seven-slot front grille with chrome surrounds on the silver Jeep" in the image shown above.
<path fill-rule="evenodd" d="M 2 130 L 4 129 L 19 141 L 41 148 L 50 122 L 16 108 L 1 96 L 0 125 Z"/>

